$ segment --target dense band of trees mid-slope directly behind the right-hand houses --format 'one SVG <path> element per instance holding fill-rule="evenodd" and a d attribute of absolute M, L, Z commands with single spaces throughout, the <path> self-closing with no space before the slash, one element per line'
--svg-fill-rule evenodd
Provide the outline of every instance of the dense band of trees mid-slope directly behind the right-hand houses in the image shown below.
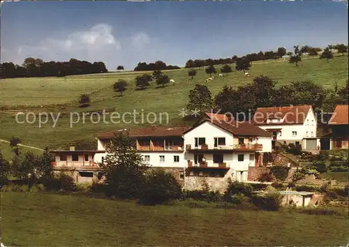
<path fill-rule="evenodd" d="M 276 88 L 276 82 L 260 75 L 251 84 L 234 89 L 224 86 L 214 98 L 206 85 L 196 84 L 188 96 L 188 110 L 207 112 L 211 109 L 221 112 L 255 112 L 258 107 L 279 105 L 312 105 L 315 111 L 331 112 L 337 104 L 348 104 L 348 80 L 344 87 L 325 89 L 310 80 L 296 81 Z"/>

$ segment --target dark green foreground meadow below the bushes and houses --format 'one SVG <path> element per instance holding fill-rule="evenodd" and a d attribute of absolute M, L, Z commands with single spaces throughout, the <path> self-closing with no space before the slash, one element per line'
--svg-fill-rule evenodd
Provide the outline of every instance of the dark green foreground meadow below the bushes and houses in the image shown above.
<path fill-rule="evenodd" d="M 348 219 L 1 193 L 7 246 L 338 246 Z"/>

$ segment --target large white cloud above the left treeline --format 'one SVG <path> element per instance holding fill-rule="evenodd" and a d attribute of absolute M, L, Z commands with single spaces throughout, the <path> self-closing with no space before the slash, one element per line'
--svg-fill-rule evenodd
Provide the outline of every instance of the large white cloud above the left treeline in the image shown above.
<path fill-rule="evenodd" d="M 45 38 L 38 45 L 23 45 L 17 49 L 20 57 L 40 57 L 44 60 L 62 60 L 75 57 L 89 61 L 121 49 L 119 40 L 112 35 L 112 26 L 97 24 L 86 31 L 75 31 L 66 38 Z"/>

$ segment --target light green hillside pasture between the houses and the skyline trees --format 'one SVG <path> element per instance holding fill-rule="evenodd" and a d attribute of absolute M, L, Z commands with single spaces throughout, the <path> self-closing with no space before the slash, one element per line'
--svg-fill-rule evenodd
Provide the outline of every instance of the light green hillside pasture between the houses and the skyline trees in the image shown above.
<path fill-rule="evenodd" d="M 217 69 L 220 66 L 216 66 Z M 142 72 L 141 72 L 142 73 Z M 153 83 L 143 91 L 136 91 L 134 78 L 140 74 L 128 73 L 106 73 L 96 75 L 79 75 L 68 77 L 42 77 L 42 78 L 19 78 L 1 80 L 0 105 L 1 105 L 1 133 L 0 138 L 8 140 L 13 135 L 20 137 L 23 144 L 35 147 L 68 147 L 71 144 L 94 143 L 94 137 L 103 131 L 115 128 L 132 128 L 136 123 L 91 123 L 87 117 L 85 123 L 80 119 L 79 123 L 70 126 L 70 112 L 102 111 L 103 109 L 115 109 L 120 114 L 124 112 L 166 112 L 167 118 L 156 124 L 178 125 L 184 124 L 179 117 L 179 110 L 186 107 L 188 93 L 193 89 L 195 82 L 203 83 L 207 75 L 204 68 L 198 68 L 198 75 L 194 80 L 188 80 L 188 69 L 165 71 L 171 79 L 176 81 L 175 85 L 169 84 L 165 87 L 156 87 Z M 339 87 L 346 83 L 348 77 L 348 57 L 339 56 L 326 60 L 317 58 L 304 58 L 299 66 L 287 61 L 257 61 L 253 62 L 251 77 L 244 77 L 244 73 L 235 71 L 228 76 L 214 80 L 207 86 L 215 96 L 221 91 L 223 85 L 239 87 L 252 82 L 253 77 L 267 75 L 278 82 L 278 86 L 288 84 L 295 80 L 311 79 L 322 84 L 327 89 L 338 82 Z M 216 75 L 216 77 L 218 77 Z M 112 89 L 112 84 L 118 79 L 128 80 L 128 90 L 120 97 Z M 89 93 L 91 106 L 79 108 L 77 97 L 80 93 Z M 34 123 L 16 123 L 17 112 L 48 112 L 57 117 L 61 112 L 59 121 L 52 128 L 52 119 L 38 127 L 37 117 Z M 73 115 L 74 117 L 75 115 Z M 33 116 L 31 116 L 33 118 Z M 126 117 L 130 120 L 131 117 Z M 150 117 L 150 120 L 153 120 Z M 21 119 L 22 120 L 22 119 Z M 77 119 L 73 119 L 77 120 Z M 142 125 L 142 123 L 140 123 Z M 143 123 L 145 125 L 145 123 Z M 139 126 L 139 124 L 138 124 Z M 147 124 L 149 126 L 149 124 Z"/>

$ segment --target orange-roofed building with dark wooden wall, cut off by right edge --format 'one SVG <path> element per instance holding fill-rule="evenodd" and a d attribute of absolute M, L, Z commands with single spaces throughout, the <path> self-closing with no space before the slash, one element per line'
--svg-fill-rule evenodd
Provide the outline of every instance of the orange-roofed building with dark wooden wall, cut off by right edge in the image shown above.
<path fill-rule="evenodd" d="M 330 149 L 348 149 L 348 105 L 337 105 L 328 124 L 332 129 Z"/>

